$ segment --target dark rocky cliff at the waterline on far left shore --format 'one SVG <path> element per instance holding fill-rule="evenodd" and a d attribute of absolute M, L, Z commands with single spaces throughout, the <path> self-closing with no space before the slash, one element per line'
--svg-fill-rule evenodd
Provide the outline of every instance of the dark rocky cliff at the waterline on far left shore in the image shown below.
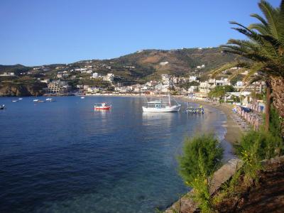
<path fill-rule="evenodd" d="M 0 84 L 0 96 L 40 96 L 44 94 L 45 83 L 36 82 L 34 84 Z"/>

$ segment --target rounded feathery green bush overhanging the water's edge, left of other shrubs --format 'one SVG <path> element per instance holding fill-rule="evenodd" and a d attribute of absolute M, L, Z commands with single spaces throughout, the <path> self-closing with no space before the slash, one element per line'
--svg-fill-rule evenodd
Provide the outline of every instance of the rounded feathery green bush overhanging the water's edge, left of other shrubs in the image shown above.
<path fill-rule="evenodd" d="M 201 174 L 202 165 L 202 173 L 208 177 L 221 165 L 222 155 L 219 141 L 211 134 L 186 138 L 183 155 L 179 158 L 180 175 L 190 185 Z"/>

